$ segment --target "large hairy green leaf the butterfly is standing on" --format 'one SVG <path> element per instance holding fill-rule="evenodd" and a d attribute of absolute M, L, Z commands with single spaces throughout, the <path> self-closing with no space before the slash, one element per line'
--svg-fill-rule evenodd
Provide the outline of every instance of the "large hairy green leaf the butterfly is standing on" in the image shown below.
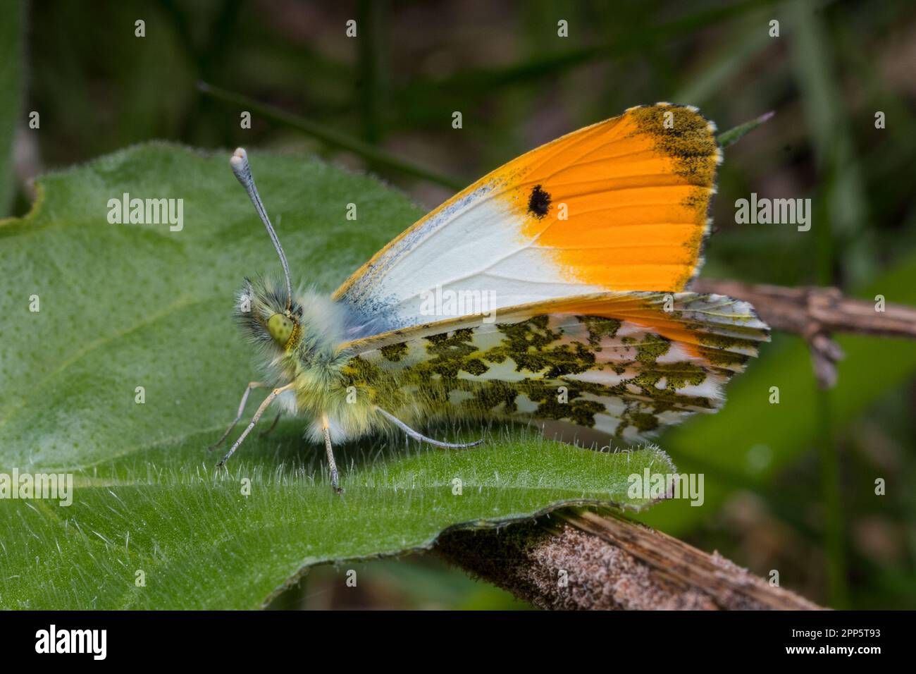
<path fill-rule="evenodd" d="M 324 291 L 420 215 L 374 179 L 250 157 L 291 270 Z M 470 450 L 337 447 L 342 496 L 296 419 L 215 470 L 204 447 L 256 378 L 234 292 L 278 269 L 227 159 L 127 149 L 44 177 L 33 211 L 0 223 L 0 473 L 75 476 L 70 506 L 0 499 L 0 607 L 254 608 L 311 565 L 429 547 L 448 527 L 649 503 L 627 497 L 627 478 L 673 471 L 660 451 L 590 451 L 504 425 L 461 429 L 488 439 Z M 183 227 L 109 224 L 124 193 L 183 199 Z"/>

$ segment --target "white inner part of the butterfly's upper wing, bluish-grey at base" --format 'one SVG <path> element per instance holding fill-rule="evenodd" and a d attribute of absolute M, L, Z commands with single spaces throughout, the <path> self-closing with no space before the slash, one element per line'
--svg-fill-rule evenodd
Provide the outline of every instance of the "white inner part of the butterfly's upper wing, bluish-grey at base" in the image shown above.
<path fill-rule="evenodd" d="M 603 290 L 564 280 L 536 238 L 520 236 L 510 204 L 489 198 L 498 189 L 447 204 L 369 263 L 338 298 L 363 317 L 351 338 Z"/>

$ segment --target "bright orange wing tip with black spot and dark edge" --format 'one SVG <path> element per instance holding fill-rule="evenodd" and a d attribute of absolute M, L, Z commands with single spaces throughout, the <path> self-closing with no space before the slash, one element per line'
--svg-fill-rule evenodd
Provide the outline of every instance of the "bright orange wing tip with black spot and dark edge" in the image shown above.
<path fill-rule="evenodd" d="M 522 238 L 550 249 L 571 281 L 680 291 L 707 232 L 721 160 L 714 128 L 693 107 L 634 107 L 492 177 L 507 186 Z"/>

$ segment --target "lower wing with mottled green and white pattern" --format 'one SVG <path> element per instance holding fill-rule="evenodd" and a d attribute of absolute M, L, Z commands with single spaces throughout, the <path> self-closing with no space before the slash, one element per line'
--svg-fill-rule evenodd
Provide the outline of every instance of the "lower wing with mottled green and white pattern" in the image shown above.
<path fill-rule="evenodd" d="M 407 423 L 562 420 L 636 439 L 714 412 L 769 328 L 700 293 L 596 293 L 354 341 L 346 385 Z"/>

